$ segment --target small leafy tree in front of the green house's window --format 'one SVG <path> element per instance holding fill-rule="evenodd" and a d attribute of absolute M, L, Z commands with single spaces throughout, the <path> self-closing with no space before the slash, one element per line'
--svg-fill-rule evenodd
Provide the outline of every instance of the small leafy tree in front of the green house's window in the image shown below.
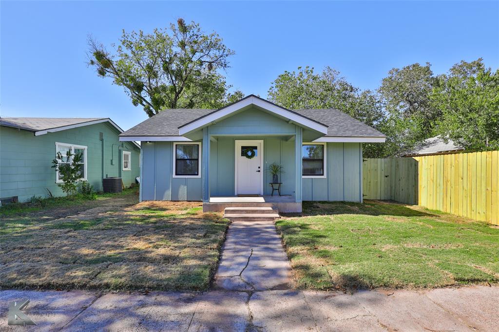
<path fill-rule="evenodd" d="M 80 166 L 82 160 L 83 155 L 81 153 L 73 154 L 72 150 L 69 149 L 65 156 L 57 152 L 55 159 L 52 161 L 52 168 L 55 168 L 59 172 L 59 176 L 62 176 L 62 183 L 57 185 L 67 196 L 76 192 L 77 181 L 81 179 Z"/>

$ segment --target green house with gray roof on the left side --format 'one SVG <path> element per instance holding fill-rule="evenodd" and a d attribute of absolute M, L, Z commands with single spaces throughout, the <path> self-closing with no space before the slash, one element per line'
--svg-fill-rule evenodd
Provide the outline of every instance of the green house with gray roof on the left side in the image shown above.
<path fill-rule="evenodd" d="M 0 198 L 63 195 L 51 166 L 69 148 L 83 154 L 82 179 L 95 190 L 103 177 L 122 177 L 129 186 L 140 173 L 140 146 L 119 142 L 120 133 L 109 118 L 0 118 Z"/>

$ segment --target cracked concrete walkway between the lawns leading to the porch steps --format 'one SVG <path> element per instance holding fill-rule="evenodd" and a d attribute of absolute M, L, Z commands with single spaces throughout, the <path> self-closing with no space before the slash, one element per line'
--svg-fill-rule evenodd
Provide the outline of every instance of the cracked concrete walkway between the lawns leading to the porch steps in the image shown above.
<path fill-rule="evenodd" d="M 291 267 L 273 221 L 233 221 L 215 276 L 220 290 L 291 288 Z"/>

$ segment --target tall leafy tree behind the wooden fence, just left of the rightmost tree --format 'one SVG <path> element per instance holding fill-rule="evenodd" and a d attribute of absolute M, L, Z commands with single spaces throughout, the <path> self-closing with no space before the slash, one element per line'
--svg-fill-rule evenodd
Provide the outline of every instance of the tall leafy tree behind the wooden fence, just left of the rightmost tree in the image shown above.
<path fill-rule="evenodd" d="M 431 65 L 414 63 L 388 72 L 378 93 L 388 119 L 388 156 L 402 154 L 422 140 L 435 135 L 435 124 L 440 111 L 430 102 L 436 83 Z"/>

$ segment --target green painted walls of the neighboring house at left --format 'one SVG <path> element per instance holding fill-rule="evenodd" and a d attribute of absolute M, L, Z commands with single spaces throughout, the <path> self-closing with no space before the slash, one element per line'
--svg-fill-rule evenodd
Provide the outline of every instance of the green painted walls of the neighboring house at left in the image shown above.
<path fill-rule="evenodd" d="M 0 127 L 0 197 L 18 196 L 26 201 L 31 196 L 64 195 L 57 186 L 54 168 L 55 142 L 87 147 L 87 180 L 95 190 L 102 190 L 102 142 L 104 135 L 104 177 L 121 176 L 125 186 L 139 176 L 140 150 L 131 142 L 123 142 L 131 152 L 131 170 L 121 170 L 119 132 L 106 123 L 83 126 L 34 136 L 32 132 Z"/>

